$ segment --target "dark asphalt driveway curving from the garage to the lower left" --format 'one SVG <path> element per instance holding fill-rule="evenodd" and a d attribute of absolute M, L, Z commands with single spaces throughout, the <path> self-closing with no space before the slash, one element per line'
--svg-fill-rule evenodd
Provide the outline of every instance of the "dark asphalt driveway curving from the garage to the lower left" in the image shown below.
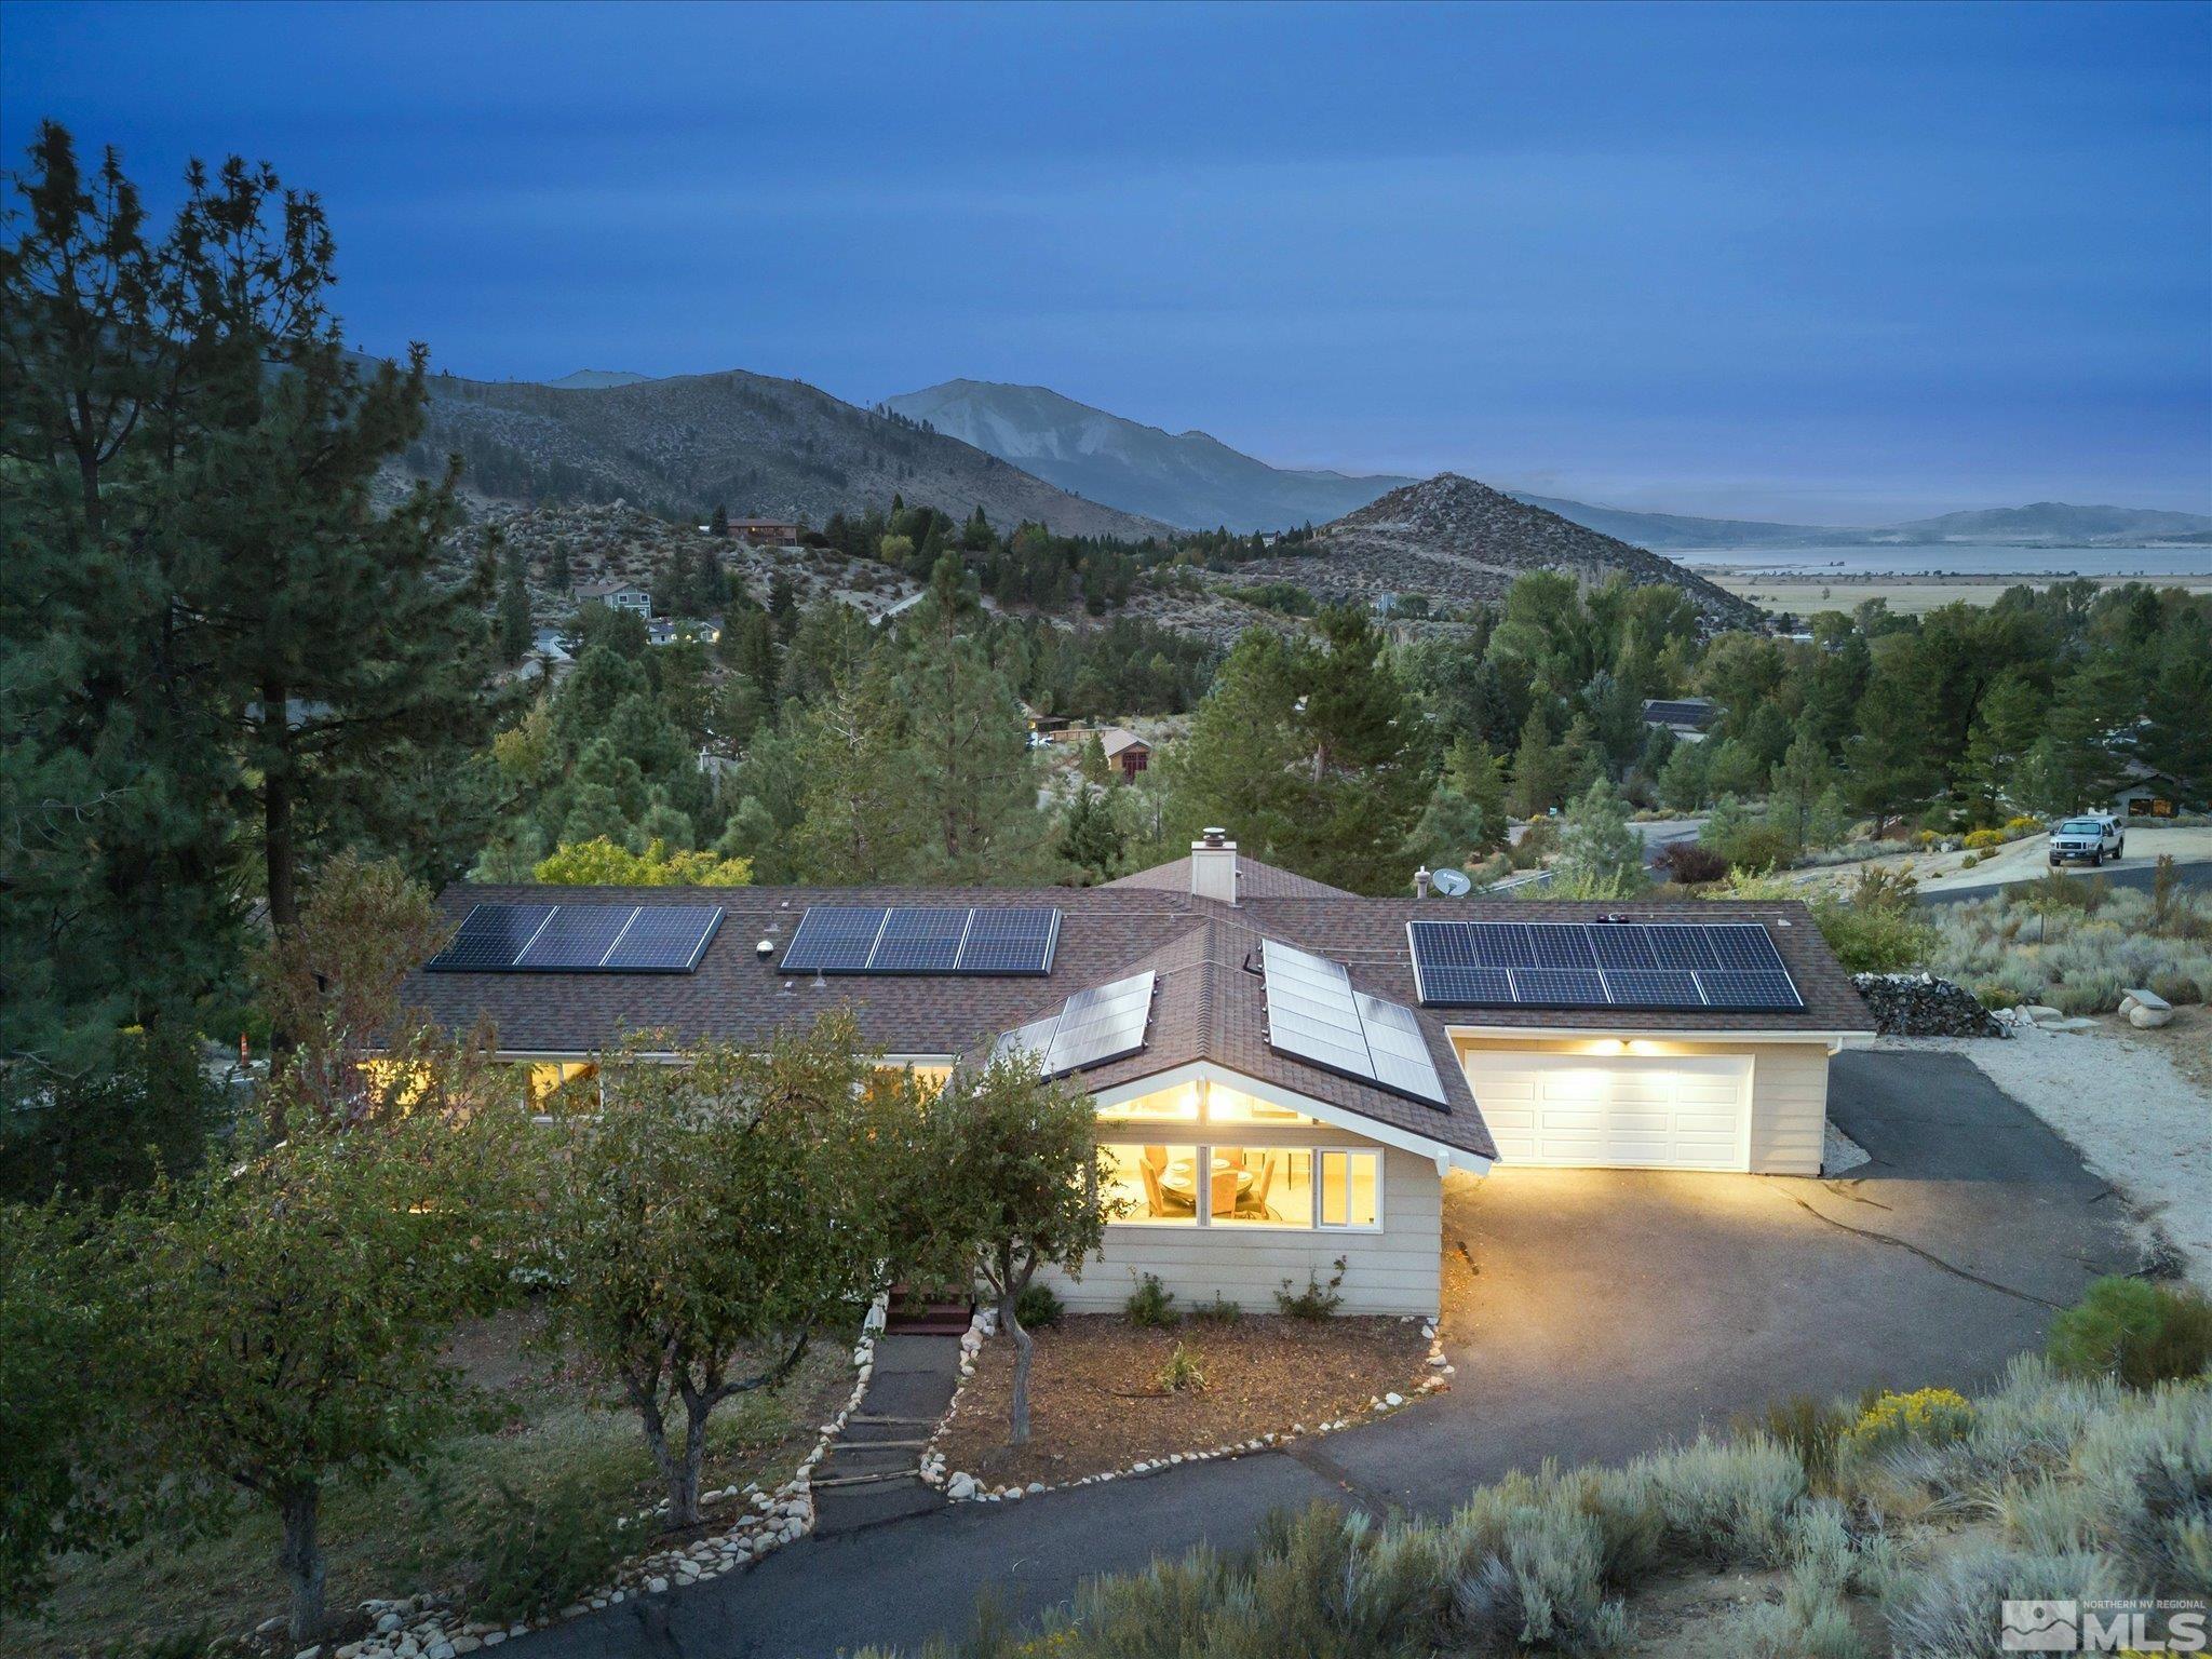
<path fill-rule="evenodd" d="M 1455 1179 L 1444 1298 L 1458 1387 L 1418 1409 L 1296 1453 L 810 1540 L 529 1637 L 520 1659 L 918 1646 L 962 1628 L 980 1588 L 1033 1613 L 1091 1573 L 1201 1540 L 1234 1548 L 1283 1504 L 1442 1513 L 1511 1467 L 1624 1458 L 1787 1394 L 1971 1387 L 2039 1345 L 2090 1276 L 2132 1265 L 2104 1181 L 1966 1060 L 1843 1055 L 1832 1113 L 1874 1155 L 1843 1181 Z"/>

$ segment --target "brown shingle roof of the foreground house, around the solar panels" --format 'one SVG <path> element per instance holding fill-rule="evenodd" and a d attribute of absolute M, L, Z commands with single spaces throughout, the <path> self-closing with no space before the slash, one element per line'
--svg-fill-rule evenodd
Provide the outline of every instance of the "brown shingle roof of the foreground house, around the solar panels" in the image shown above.
<path fill-rule="evenodd" d="M 1765 925 L 1805 998 L 1801 1013 L 1425 1009 L 1416 1002 L 1405 933 L 1416 916 L 1535 922 L 1626 914 L 1679 920 L 1683 907 L 1354 898 L 1256 860 L 1239 863 L 1250 872 L 1250 885 L 1245 902 L 1234 907 L 1192 898 L 1188 860 L 1088 889 L 688 889 L 686 900 L 710 898 L 726 909 L 697 973 L 414 973 L 405 1002 L 453 1029 L 489 1018 L 509 1053 L 591 1053 L 639 1031 L 666 1031 L 672 1044 L 719 1037 L 743 1046 L 794 1020 L 845 1006 L 858 1020 L 863 1040 L 885 1053 L 958 1055 L 987 1048 L 1000 1033 L 1048 1013 L 1073 991 L 1152 969 L 1161 984 L 1144 1053 L 1082 1073 L 1086 1086 L 1108 1088 L 1203 1060 L 1482 1157 L 1495 1157 L 1495 1150 L 1453 1057 L 1449 1026 L 1562 1033 L 1874 1029 L 1809 911 L 1796 902 L 1701 902 L 1694 914 Z M 1166 872 L 1181 872 L 1181 885 L 1164 880 Z M 1292 891 L 1265 896 L 1252 891 L 1256 885 Z M 460 920 L 476 902 L 635 905 L 672 898 L 670 889 L 635 887 L 449 887 L 438 902 Z M 1055 905 L 1062 911 L 1060 945 L 1048 978 L 787 975 L 776 971 L 776 962 L 807 905 Z M 754 942 L 763 938 L 774 945 L 765 962 L 754 956 Z M 1358 989 L 1413 1009 L 1444 1084 L 1444 1108 L 1276 1053 L 1267 1044 L 1265 989 L 1245 967 L 1261 938 L 1343 962 Z"/>

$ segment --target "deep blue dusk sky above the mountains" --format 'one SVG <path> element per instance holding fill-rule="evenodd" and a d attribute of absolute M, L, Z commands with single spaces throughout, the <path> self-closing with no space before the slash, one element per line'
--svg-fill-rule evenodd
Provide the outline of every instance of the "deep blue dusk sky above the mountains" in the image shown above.
<path fill-rule="evenodd" d="M 2212 511 L 2212 7 L 0 7 L 374 352 L 1048 385 L 1663 511 Z"/>

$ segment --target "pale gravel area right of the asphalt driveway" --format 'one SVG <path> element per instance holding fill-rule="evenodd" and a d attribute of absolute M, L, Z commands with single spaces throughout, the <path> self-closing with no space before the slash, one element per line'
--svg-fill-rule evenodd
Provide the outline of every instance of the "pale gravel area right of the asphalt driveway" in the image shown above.
<path fill-rule="evenodd" d="M 2093 1031 L 2028 1029 L 2002 1042 L 1885 1037 L 1880 1046 L 1973 1060 L 2081 1148 L 2183 1254 L 2190 1279 L 2212 1290 L 2212 1011 L 2179 1009 L 2163 1031 L 2104 1018 Z"/>

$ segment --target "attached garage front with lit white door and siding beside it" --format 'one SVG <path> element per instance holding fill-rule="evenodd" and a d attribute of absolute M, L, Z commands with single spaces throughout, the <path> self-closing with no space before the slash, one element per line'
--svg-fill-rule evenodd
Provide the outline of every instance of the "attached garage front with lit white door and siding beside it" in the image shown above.
<path fill-rule="evenodd" d="M 1816 1175 L 1832 1040 L 1453 1033 L 1502 1168 Z"/>

